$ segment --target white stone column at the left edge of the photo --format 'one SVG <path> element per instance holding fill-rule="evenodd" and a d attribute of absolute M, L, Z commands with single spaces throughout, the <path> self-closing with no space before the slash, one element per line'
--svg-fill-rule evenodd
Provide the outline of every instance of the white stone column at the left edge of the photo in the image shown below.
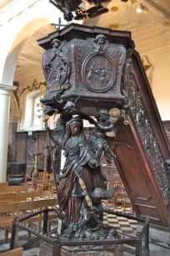
<path fill-rule="evenodd" d="M 0 84 L 0 182 L 6 182 L 7 177 L 7 146 L 9 126 L 10 93 L 16 87 Z"/>

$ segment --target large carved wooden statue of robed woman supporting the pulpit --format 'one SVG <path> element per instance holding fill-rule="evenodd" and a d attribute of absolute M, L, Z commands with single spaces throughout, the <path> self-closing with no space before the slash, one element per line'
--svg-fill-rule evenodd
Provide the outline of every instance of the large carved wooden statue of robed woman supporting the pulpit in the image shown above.
<path fill-rule="evenodd" d="M 64 150 L 66 156 L 57 197 L 61 209 L 65 212 L 65 225 L 68 226 L 80 221 L 82 206 L 88 208 L 80 179 L 84 182 L 88 194 L 97 187 L 106 189 L 106 185 L 100 162 L 83 133 L 82 119 L 79 116 L 67 122 L 64 136 L 51 138 Z"/>

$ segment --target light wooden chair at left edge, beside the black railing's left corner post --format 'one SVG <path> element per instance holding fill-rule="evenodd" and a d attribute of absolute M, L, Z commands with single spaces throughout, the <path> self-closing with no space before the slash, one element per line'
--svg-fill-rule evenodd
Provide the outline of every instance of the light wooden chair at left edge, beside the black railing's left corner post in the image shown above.
<path fill-rule="evenodd" d="M 0 228 L 5 228 L 4 241 L 7 242 L 8 227 L 12 227 L 13 218 L 18 215 L 18 202 L 1 203 L 0 213 L 4 213 L 4 216 L 0 216 Z"/>

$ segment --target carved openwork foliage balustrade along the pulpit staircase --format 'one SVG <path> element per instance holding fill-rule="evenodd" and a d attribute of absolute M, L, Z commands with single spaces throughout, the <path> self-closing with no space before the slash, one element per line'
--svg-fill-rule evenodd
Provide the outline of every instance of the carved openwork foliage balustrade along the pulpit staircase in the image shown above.
<path fill-rule="evenodd" d="M 128 50 L 128 59 L 124 71 L 124 93 L 128 97 L 130 112 L 133 114 L 133 119 L 137 125 L 138 133 L 147 153 L 159 191 L 163 195 L 166 206 L 168 206 L 168 166 L 163 159 L 148 113 L 143 105 L 138 85 L 133 78 L 132 54 L 133 51 L 131 49 Z"/>

